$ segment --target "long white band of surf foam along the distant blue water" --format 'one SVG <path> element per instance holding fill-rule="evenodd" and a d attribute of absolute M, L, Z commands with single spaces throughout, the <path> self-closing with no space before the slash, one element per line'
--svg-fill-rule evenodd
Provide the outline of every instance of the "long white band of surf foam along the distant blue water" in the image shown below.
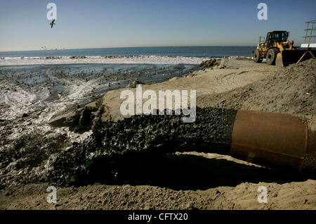
<path fill-rule="evenodd" d="M 2 57 L 0 66 L 58 65 L 58 64 L 192 64 L 198 65 L 209 57 L 183 56 L 50 56 L 50 57 Z"/>

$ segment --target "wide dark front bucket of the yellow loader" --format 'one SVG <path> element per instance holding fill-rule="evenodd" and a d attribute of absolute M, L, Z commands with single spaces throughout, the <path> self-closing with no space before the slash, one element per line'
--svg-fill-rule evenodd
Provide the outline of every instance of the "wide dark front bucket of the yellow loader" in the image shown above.
<path fill-rule="evenodd" d="M 312 54 L 316 55 L 316 50 L 310 50 Z M 303 56 L 303 58 L 302 58 Z M 297 63 L 300 59 L 305 61 L 312 58 L 307 50 L 284 50 L 277 54 L 275 60 L 276 66 L 289 66 L 289 64 Z"/>

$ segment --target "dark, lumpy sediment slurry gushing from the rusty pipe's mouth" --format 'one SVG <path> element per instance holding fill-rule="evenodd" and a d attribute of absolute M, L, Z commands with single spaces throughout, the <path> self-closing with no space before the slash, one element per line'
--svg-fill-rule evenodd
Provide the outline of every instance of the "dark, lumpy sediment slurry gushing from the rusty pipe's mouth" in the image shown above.
<path fill-rule="evenodd" d="M 133 170 L 162 167 L 166 155 L 176 151 L 230 154 L 237 111 L 197 108 L 195 123 L 182 116 L 132 116 L 103 128 L 56 158 L 48 181 L 55 185 L 117 183 Z"/>

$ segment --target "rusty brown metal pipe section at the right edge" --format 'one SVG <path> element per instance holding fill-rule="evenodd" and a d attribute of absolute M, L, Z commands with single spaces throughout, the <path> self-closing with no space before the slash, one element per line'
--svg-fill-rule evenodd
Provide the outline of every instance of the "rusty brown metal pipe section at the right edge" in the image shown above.
<path fill-rule="evenodd" d="M 243 161 L 312 173 L 316 132 L 304 118 L 286 113 L 237 111 L 230 153 Z"/>

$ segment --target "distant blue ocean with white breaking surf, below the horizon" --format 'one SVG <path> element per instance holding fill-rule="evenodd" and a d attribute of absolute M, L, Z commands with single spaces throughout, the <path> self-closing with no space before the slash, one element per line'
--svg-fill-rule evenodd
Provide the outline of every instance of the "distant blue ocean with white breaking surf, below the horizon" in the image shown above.
<path fill-rule="evenodd" d="M 209 58 L 250 57 L 255 46 L 159 46 L 0 52 L 0 66 L 58 64 L 191 64 Z"/>

